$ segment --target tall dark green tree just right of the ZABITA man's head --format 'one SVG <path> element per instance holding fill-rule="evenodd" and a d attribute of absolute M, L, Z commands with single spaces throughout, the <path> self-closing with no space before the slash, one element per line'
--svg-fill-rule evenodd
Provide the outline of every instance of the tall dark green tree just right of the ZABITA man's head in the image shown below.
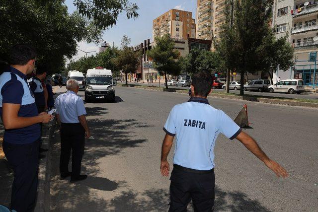
<path fill-rule="evenodd" d="M 262 44 L 269 33 L 272 4 L 273 0 L 235 0 L 233 18 L 226 15 L 218 51 L 226 67 L 239 72 L 241 95 L 245 72 L 253 73 L 262 67 Z M 231 8 L 230 1 L 227 7 Z"/>

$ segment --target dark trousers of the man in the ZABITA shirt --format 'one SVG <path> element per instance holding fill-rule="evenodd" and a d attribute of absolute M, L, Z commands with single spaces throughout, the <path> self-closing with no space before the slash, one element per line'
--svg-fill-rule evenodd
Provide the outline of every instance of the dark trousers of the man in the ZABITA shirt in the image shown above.
<path fill-rule="evenodd" d="M 170 181 L 169 212 L 186 212 L 191 199 L 194 211 L 213 211 L 215 186 L 213 169 L 198 171 L 174 164 Z"/>

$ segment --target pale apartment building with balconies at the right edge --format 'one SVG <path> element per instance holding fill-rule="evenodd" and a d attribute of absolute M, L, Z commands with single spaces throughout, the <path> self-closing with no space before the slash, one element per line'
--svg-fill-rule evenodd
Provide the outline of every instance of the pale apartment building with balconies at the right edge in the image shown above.
<path fill-rule="evenodd" d="M 308 61 L 309 53 L 318 51 L 317 18 L 318 1 L 274 1 L 273 26 L 276 27 L 276 37 L 287 33 L 295 50 L 295 67 L 289 71 L 278 69 L 274 77 L 302 78 L 306 85 L 318 83 L 318 74 L 314 76 L 315 62 Z"/>

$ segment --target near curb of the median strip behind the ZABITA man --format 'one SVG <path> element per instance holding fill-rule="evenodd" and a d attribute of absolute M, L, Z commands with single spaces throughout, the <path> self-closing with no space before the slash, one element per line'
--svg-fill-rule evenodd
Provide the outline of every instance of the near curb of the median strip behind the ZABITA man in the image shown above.
<path fill-rule="evenodd" d="M 161 88 L 151 88 L 151 87 L 148 88 L 148 87 L 138 87 L 138 86 L 135 86 L 134 88 L 145 89 L 145 90 L 163 91 Z M 169 92 L 169 91 L 163 91 L 163 92 Z M 187 90 L 184 90 L 184 91 L 183 90 L 175 90 L 175 92 L 176 93 L 188 93 Z M 302 107 L 318 108 L 318 103 L 297 102 L 297 101 L 290 101 L 290 100 L 260 98 L 260 97 L 256 97 L 256 96 L 235 96 L 235 95 L 223 95 L 223 94 L 211 93 L 209 95 L 209 97 L 224 98 L 224 99 L 246 100 L 246 101 L 252 101 L 252 102 L 270 103 L 270 104 L 283 104 L 283 105 L 291 105 L 291 106 L 302 106 Z"/>

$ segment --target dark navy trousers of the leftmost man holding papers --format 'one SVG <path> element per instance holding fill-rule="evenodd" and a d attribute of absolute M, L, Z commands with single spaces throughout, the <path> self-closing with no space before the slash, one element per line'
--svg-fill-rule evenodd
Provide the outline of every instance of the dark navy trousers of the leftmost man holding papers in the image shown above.
<path fill-rule="evenodd" d="M 32 212 L 38 185 L 39 141 L 28 144 L 4 141 L 2 145 L 8 163 L 13 166 L 10 208 L 17 212 Z"/>

